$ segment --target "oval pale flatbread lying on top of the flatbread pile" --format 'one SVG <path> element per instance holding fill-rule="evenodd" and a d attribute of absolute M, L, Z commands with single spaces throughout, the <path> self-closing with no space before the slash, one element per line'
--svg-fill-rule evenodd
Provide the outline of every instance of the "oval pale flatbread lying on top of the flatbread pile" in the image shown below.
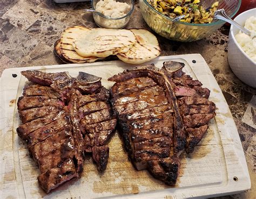
<path fill-rule="evenodd" d="M 125 53 L 136 42 L 130 30 L 92 29 L 77 37 L 73 47 L 80 56 L 107 57 Z"/>

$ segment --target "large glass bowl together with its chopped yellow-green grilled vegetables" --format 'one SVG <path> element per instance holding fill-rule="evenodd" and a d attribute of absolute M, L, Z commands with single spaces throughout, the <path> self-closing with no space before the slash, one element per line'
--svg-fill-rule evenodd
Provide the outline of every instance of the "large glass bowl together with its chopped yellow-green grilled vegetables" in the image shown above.
<path fill-rule="evenodd" d="M 180 42 L 193 42 L 211 35 L 223 20 L 214 19 L 217 9 L 233 17 L 241 0 L 139 0 L 147 25 L 159 35 Z"/>

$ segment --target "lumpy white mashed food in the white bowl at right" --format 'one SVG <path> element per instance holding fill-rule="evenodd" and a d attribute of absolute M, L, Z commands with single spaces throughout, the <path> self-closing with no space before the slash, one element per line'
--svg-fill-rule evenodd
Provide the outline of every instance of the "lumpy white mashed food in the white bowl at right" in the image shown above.
<path fill-rule="evenodd" d="M 251 37 L 240 31 L 235 35 L 235 39 L 242 50 L 256 63 L 256 17 L 246 19 L 245 28 L 252 32 Z"/>

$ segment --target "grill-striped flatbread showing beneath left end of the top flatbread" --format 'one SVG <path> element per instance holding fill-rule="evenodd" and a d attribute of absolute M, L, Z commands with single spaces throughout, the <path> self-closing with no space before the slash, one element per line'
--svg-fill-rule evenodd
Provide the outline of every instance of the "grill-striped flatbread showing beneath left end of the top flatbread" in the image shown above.
<path fill-rule="evenodd" d="M 87 31 L 90 31 L 90 29 L 85 28 L 84 26 L 72 26 L 64 30 L 62 37 L 60 38 L 60 52 L 65 59 L 72 63 L 93 62 L 99 59 L 97 57 L 80 56 L 73 48 L 75 39 L 80 37 L 80 35 L 85 34 Z"/>

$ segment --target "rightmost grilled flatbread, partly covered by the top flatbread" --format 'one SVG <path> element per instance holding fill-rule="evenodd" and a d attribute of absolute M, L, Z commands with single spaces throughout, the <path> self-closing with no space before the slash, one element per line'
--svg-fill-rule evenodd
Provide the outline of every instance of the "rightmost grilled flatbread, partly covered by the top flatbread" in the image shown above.
<path fill-rule="evenodd" d="M 145 29 L 131 29 L 137 42 L 126 53 L 118 53 L 117 57 L 129 64 L 142 64 L 160 55 L 160 47 L 156 36 Z"/>

